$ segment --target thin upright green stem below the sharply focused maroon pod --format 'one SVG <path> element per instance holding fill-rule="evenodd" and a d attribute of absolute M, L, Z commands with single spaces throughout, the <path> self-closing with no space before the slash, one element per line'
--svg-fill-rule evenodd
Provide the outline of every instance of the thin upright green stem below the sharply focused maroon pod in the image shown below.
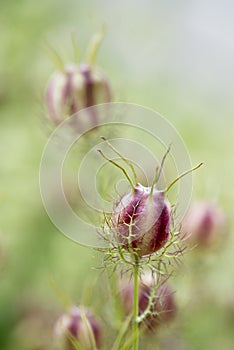
<path fill-rule="evenodd" d="M 134 297 L 133 297 L 133 350 L 138 350 L 139 348 L 139 325 L 138 325 L 138 309 L 139 309 L 139 259 L 135 258 L 135 265 L 133 271 L 134 278 Z"/>

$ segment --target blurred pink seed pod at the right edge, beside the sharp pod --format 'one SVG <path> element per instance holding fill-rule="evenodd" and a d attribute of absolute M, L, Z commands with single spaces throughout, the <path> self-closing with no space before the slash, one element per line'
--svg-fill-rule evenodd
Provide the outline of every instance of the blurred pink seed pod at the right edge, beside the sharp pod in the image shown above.
<path fill-rule="evenodd" d="M 182 232 L 193 244 L 208 247 L 218 242 L 226 229 L 222 211 L 212 203 L 195 203 L 182 223 Z"/>

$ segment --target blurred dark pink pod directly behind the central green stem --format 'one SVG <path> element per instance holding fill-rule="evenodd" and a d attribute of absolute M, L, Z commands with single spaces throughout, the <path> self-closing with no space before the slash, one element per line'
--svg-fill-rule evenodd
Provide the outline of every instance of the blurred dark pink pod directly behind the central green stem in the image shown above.
<path fill-rule="evenodd" d="M 152 304 L 149 314 L 144 319 L 149 329 L 154 329 L 160 323 L 166 323 L 175 316 L 176 306 L 174 295 L 168 283 L 158 284 L 152 277 L 152 274 L 146 274 L 139 281 L 139 316 L 144 313 L 149 304 L 149 298 L 153 293 Z M 133 282 L 123 280 L 120 283 L 120 298 L 123 303 L 124 311 L 129 314 L 133 310 Z"/>

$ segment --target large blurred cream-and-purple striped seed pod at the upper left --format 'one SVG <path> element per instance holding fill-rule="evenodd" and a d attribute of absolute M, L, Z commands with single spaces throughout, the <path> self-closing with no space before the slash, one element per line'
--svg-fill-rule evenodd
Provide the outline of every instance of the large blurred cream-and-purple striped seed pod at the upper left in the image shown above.
<path fill-rule="evenodd" d="M 50 78 L 45 100 L 49 117 L 58 125 L 83 108 L 110 102 L 111 89 L 107 78 L 96 68 L 88 64 L 67 65 Z"/>

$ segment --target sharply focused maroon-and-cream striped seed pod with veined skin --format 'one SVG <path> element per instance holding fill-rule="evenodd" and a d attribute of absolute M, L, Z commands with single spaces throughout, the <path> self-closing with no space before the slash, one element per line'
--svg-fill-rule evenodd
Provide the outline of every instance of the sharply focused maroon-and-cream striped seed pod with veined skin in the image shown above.
<path fill-rule="evenodd" d="M 137 184 L 117 204 L 112 225 L 118 243 L 139 257 L 152 254 L 168 240 L 170 205 L 164 192 Z"/>

